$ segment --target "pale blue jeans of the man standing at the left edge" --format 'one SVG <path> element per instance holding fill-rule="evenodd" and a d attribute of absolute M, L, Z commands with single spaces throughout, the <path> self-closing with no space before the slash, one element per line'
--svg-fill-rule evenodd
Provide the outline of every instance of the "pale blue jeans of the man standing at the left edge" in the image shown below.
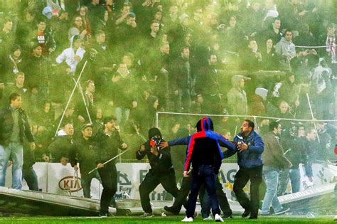
<path fill-rule="evenodd" d="M 13 161 L 11 188 L 22 188 L 23 148 L 20 142 L 11 142 L 8 146 L 0 145 L 0 186 L 5 186 L 9 158 Z"/>

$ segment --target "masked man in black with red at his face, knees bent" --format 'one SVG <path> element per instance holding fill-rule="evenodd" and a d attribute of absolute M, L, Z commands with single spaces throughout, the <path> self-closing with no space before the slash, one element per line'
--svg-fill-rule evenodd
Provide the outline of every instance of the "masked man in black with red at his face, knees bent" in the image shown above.
<path fill-rule="evenodd" d="M 150 161 L 151 169 L 146 174 L 144 181 L 139 186 L 139 194 L 141 198 L 141 207 L 144 210 L 144 217 L 154 216 L 150 204 L 149 194 L 154 188 L 161 183 L 164 189 L 171 193 L 173 197 L 178 196 L 178 188 L 176 187 L 176 175 L 174 174 L 173 164 L 171 161 L 170 148 L 159 149 L 161 142 L 165 142 L 161 137 L 159 129 L 153 127 L 149 129 L 149 141 L 141 145 L 139 151 L 136 152 L 138 160 L 147 156 Z"/>

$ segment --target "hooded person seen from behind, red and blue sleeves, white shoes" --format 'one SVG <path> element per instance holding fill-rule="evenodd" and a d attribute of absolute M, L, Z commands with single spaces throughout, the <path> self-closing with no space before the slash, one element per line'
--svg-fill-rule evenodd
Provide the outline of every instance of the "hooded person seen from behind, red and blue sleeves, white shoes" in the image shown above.
<path fill-rule="evenodd" d="M 216 196 L 215 176 L 219 173 L 223 152 L 220 149 L 220 134 L 213 132 L 213 122 L 210 117 L 200 119 L 196 124 L 197 133 L 191 136 L 186 151 L 186 162 L 183 167 L 183 176 L 188 177 L 190 166 L 193 164 L 191 193 L 188 196 L 188 208 L 183 222 L 193 221 L 196 210 L 198 191 L 202 184 L 208 193 L 212 213 L 215 221 L 223 222 L 220 216 L 218 198 Z M 226 142 L 226 141 L 225 141 Z M 234 147 L 232 147 L 234 148 Z"/>

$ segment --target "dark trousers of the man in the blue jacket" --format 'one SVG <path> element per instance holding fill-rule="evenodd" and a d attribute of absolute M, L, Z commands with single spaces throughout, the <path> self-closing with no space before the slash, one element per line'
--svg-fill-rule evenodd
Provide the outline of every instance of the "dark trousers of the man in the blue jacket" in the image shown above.
<path fill-rule="evenodd" d="M 250 180 L 250 198 L 248 198 L 243 188 Z M 250 169 L 240 167 L 235 174 L 233 191 L 242 208 L 250 210 L 250 216 L 257 218 L 260 205 L 259 187 L 262 183 L 262 166 Z"/>

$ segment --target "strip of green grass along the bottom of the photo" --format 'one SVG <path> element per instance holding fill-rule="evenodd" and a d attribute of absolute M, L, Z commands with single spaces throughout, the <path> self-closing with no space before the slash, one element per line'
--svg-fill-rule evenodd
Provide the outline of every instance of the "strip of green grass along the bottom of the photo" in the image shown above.
<path fill-rule="evenodd" d="M 303 215 L 296 216 L 264 216 L 257 220 L 249 220 L 234 216 L 233 219 L 225 220 L 225 223 L 337 223 L 333 221 L 334 215 L 321 215 L 315 218 L 306 218 Z M 156 216 L 143 218 L 137 216 L 114 216 L 109 218 L 97 217 L 10 217 L 0 218 L 0 223 L 181 223 L 182 215 L 177 216 Z M 214 221 L 202 220 L 200 216 L 195 218 L 193 223 L 213 223 Z"/>

